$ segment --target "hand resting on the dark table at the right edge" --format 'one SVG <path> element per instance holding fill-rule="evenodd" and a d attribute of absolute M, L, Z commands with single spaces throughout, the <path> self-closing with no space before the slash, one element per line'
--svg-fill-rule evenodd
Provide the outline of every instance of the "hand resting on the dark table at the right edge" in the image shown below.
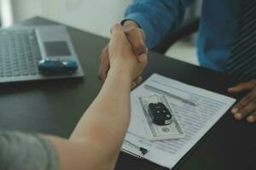
<path fill-rule="evenodd" d="M 256 122 L 256 80 L 242 82 L 233 88 L 229 88 L 230 93 L 240 93 L 249 91 L 241 101 L 236 104 L 231 112 L 237 120 L 247 117 L 247 122 Z"/>

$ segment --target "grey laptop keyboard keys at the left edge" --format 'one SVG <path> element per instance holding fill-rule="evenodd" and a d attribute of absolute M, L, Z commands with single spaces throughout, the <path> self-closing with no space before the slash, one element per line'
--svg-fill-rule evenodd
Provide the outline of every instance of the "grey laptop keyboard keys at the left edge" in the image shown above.
<path fill-rule="evenodd" d="M 34 30 L 0 31 L 0 77 L 38 75 L 40 59 Z"/>

